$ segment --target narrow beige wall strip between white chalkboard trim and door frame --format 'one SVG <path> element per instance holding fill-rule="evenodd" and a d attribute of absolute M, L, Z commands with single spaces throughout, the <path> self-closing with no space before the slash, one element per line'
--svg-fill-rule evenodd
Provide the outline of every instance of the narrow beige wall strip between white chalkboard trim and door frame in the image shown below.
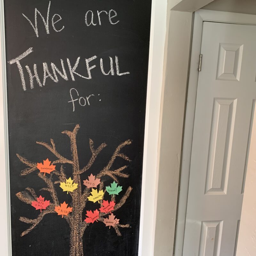
<path fill-rule="evenodd" d="M 191 24 L 191 12 L 171 11 L 161 103 L 155 256 L 170 256 L 173 251 Z"/>

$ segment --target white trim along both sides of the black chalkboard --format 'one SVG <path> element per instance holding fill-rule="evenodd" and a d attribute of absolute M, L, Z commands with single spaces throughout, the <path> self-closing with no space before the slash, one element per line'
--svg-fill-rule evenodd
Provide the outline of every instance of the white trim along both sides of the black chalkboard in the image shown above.
<path fill-rule="evenodd" d="M 139 256 L 153 256 L 156 225 L 156 193 L 158 179 L 158 136 L 160 103 L 163 85 L 164 45 L 166 35 L 167 1 L 152 0 L 151 31 L 148 66 L 148 91 L 145 120 L 145 143 L 142 175 Z M 2 255 L 12 255 L 9 148 L 7 125 L 6 58 L 4 32 L 4 0 L 0 0 L 0 178 L 6 180 L 0 193 L 0 248 Z"/>

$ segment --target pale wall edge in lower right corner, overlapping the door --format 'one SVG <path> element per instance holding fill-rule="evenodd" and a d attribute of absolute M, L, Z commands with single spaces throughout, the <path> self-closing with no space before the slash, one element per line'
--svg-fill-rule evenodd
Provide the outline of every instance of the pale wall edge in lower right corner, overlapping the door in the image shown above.
<path fill-rule="evenodd" d="M 253 120 L 236 256 L 256 255 L 256 111 Z"/>

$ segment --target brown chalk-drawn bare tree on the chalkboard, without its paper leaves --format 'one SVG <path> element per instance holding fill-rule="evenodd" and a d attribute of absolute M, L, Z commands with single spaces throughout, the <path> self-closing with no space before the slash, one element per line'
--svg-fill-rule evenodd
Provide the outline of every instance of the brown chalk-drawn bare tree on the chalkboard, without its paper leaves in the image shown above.
<path fill-rule="evenodd" d="M 61 156 L 58 153 L 58 151 L 55 147 L 54 141 L 52 139 L 51 139 L 51 145 L 47 144 L 45 142 L 39 142 L 39 141 L 36 142 L 37 144 L 42 145 L 45 148 L 49 149 L 49 151 L 52 152 L 57 157 L 57 160 L 53 161 L 52 164 L 60 164 L 60 169 L 55 170 L 55 171 L 51 172 L 51 174 L 47 174 L 45 176 L 43 173 L 40 173 L 40 172 L 38 172 L 38 174 L 37 174 L 38 177 L 40 177 L 42 180 L 44 180 L 44 182 L 46 184 L 46 187 L 41 188 L 41 190 L 48 191 L 52 197 L 52 202 L 46 208 L 46 210 L 42 211 L 38 215 L 38 217 L 33 220 L 28 219 L 26 217 L 20 217 L 20 221 L 25 222 L 27 224 L 31 224 L 31 226 L 21 234 L 21 236 L 25 236 L 32 229 L 36 228 L 38 223 L 41 220 L 43 220 L 43 218 L 46 214 L 50 214 L 50 213 L 56 214 L 56 212 L 54 211 L 55 206 L 59 206 L 60 203 L 62 203 L 62 202 L 59 202 L 55 187 L 58 186 L 57 184 L 59 184 L 60 182 L 66 182 L 67 177 L 64 172 L 64 165 L 71 164 L 73 180 L 75 183 L 78 183 L 78 188 L 76 190 L 74 190 L 74 192 L 70 193 L 72 203 L 69 202 L 69 204 L 70 204 L 70 206 L 73 207 L 73 210 L 70 214 L 68 214 L 68 216 L 64 216 L 64 218 L 66 219 L 66 221 L 68 222 L 69 227 L 70 227 L 70 254 L 69 254 L 70 256 L 83 256 L 84 255 L 83 254 L 83 235 L 84 235 L 85 229 L 89 226 L 89 223 L 86 223 L 82 219 L 82 214 L 83 214 L 83 212 L 85 212 L 85 206 L 88 201 L 87 197 L 90 195 L 90 189 L 86 188 L 85 186 L 83 186 L 84 188 L 82 188 L 80 175 L 90 169 L 90 167 L 94 163 L 96 157 L 99 155 L 100 151 L 107 146 L 106 143 L 102 143 L 97 149 L 95 149 L 94 145 L 93 145 L 93 141 L 90 139 L 89 145 L 90 145 L 92 155 L 90 157 L 88 164 L 86 166 L 84 166 L 82 169 L 80 169 L 79 159 L 78 159 L 78 154 L 77 154 L 77 144 L 76 144 L 77 143 L 76 135 L 77 135 L 79 128 L 80 128 L 80 126 L 77 124 L 73 131 L 63 131 L 62 132 L 62 133 L 67 134 L 70 139 L 70 148 L 71 148 L 71 155 L 72 155 L 70 160 L 64 156 Z M 113 155 L 111 156 L 110 160 L 108 161 L 107 165 L 97 174 L 96 178 L 99 179 L 99 178 L 107 175 L 107 176 L 111 177 L 113 180 L 115 180 L 117 183 L 118 183 L 119 177 L 128 178 L 129 174 L 122 172 L 125 168 L 127 168 L 127 165 L 124 165 L 116 170 L 112 170 L 112 165 L 117 157 L 121 157 L 128 162 L 131 161 L 128 158 L 128 156 L 126 156 L 120 152 L 124 146 L 129 145 L 131 143 L 132 143 L 131 140 L 126 140 L 123 143 L 121 143 L 115 149 L 115 151 L 114 151 Z M 22 163 L 24 163 L 28 166 L 28 168 L 21 171 L 21 173 L 20 173 L 21 176 L 28 175 L 34 171 L 37 171 L 36 163 L 30 162 L 29 160 L 20 156 L 19 154 L 17 154 L 17 156 L 19 157 L 19 159 Z M 57 181 L 53 181 L 54 175 L 57 176 L 57 178 L 58 178 Z M 103 189 L 103 187 L 104 187 L 104 183 L 101 182 L 100 190 Z M 26 188 L 26 190 L 28 190 L 32 196 L 29 196 L 29 194 L 26 192 L 24 193 L 24 191 L 17 193 L 16 196 L 22 202 L 31 204 L 31 202 L 33 200 L 36 200 L 36 198 L 38 196 L 36 195 L 36 192 L 33 188 L 28 187 L 28 188 Z M 122 207 L 124 205 L 124 203 L 126 202 L 126 199 L 130 196 L 131 191 L 132 191 L 132 188 L 128 187 L 126 192 L 124 193 L 124 196 L 119 200 L 119 202 L 116 203 L 116 205 L 114 207 L 114 211 L 118 210 L 120 207 Z M 111 195 L 111 197 L 112 197 L 112 200 L 115 201 L 115 195 Z M 101 206 L 102 206 L 102 201 L 103 200 L 100 200 Z M 112 211 L 112 212 L 114 212 L 114 211 Z M 103 217 L 105 215 L 108 215 L 108 214 L 101 212 L 100 218 L 98 220 L 103 221 Z M 57 214 L 56 214 L 56 217 L 57 217 Z M 129 227 L 130 227 L 129 224 L 123 225 L 123 224 L 118 223 L 114 226 L 114 229 L 116 231 L 117 236 L 121 236 L 119 228 L 129 228 Z"/>

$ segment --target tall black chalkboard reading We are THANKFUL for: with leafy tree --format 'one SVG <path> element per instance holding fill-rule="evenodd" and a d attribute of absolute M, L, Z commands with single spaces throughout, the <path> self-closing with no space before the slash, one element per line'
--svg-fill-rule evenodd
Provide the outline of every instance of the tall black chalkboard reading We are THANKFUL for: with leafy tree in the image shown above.
<path fill-rule="evenodd" d="M 13 256 L 138 255 L 150 16 L 4 0 Z"/>

